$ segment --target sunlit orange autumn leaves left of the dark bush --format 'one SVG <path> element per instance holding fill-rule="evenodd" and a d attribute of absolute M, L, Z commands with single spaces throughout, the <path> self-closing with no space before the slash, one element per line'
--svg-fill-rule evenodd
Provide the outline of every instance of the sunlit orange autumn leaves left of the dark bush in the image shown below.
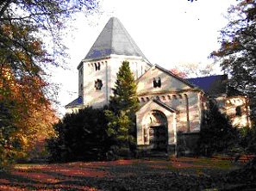
<path fill-rule="evenodd" d="M 0 102 L 11 105 L 11 123 L 17 127 L 12 135 L 22 141 L 25 149 L 37 140 L 53 136 L 52 125 L 58 118 L 41 90 L 45 85 L 41 78 L 16 79 L 8 65 L 1 65 L 0 74 Z"/>

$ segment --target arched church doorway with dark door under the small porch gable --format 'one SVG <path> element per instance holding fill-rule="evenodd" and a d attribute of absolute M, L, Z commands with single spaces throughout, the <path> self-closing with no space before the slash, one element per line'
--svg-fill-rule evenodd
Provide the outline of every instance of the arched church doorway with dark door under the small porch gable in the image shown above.
<path fill-rule="evenodd" d="M 151 151 L 167 151 L 168 130 L 165 114 L 154 110 L 144 120 L 144 139 Z"/>

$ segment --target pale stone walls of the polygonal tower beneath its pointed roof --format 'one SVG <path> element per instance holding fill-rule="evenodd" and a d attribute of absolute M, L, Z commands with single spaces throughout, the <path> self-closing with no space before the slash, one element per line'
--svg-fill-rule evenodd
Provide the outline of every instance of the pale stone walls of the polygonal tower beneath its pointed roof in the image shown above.
<path fill-rule="evenodd" d="M 120 57 L 110 55 L 107 59 L 83 61 L 79 71 L 84 71 L 79 77 L 80 95 L 83 97 L 84 105 L 93 105 L 95 108 L 102 108 L 109 103 L 109 96 L 113 95 L 112 88 L 116 83 L 116 73 L 119 71 L 122 62 L 127 60 L 130 63 L 134 77 L 140 77 L 149 69 L 149 65 L 141 58 Z M 100 84 L 98 84 L 100 83 Z"/>

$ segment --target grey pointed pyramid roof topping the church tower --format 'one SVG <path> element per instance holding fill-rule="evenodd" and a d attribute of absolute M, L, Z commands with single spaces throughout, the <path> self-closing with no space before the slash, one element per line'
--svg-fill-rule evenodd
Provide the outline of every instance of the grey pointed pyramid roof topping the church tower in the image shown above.
<path fill-rule="evenodd" d="M 145 61 L 149 63 L 147 58 L 140 51 L 140 48 L 135 44 L 132 37 L 116 17 L 109 19 L 109 22 L 105 25 L 93 46 L 91 46 L 91 50 L 84 58 L 84 61 L 104 59 L 109 57 L 110 54 L 137 56 L 145 59 Z"/>

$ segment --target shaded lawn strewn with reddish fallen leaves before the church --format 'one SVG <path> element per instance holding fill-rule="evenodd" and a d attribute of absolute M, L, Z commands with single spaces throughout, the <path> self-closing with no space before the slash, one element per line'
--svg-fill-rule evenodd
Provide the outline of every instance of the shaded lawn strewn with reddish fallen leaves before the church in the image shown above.
<path fill-rule="evenodd" d="M 223 156 L 169 157 L 16 164 L 8 173 L 0 172 L 0 190 L 256 190 L 222 178 L 245 165 L 248 159 L 234 162 L 233 158 Z"/>

